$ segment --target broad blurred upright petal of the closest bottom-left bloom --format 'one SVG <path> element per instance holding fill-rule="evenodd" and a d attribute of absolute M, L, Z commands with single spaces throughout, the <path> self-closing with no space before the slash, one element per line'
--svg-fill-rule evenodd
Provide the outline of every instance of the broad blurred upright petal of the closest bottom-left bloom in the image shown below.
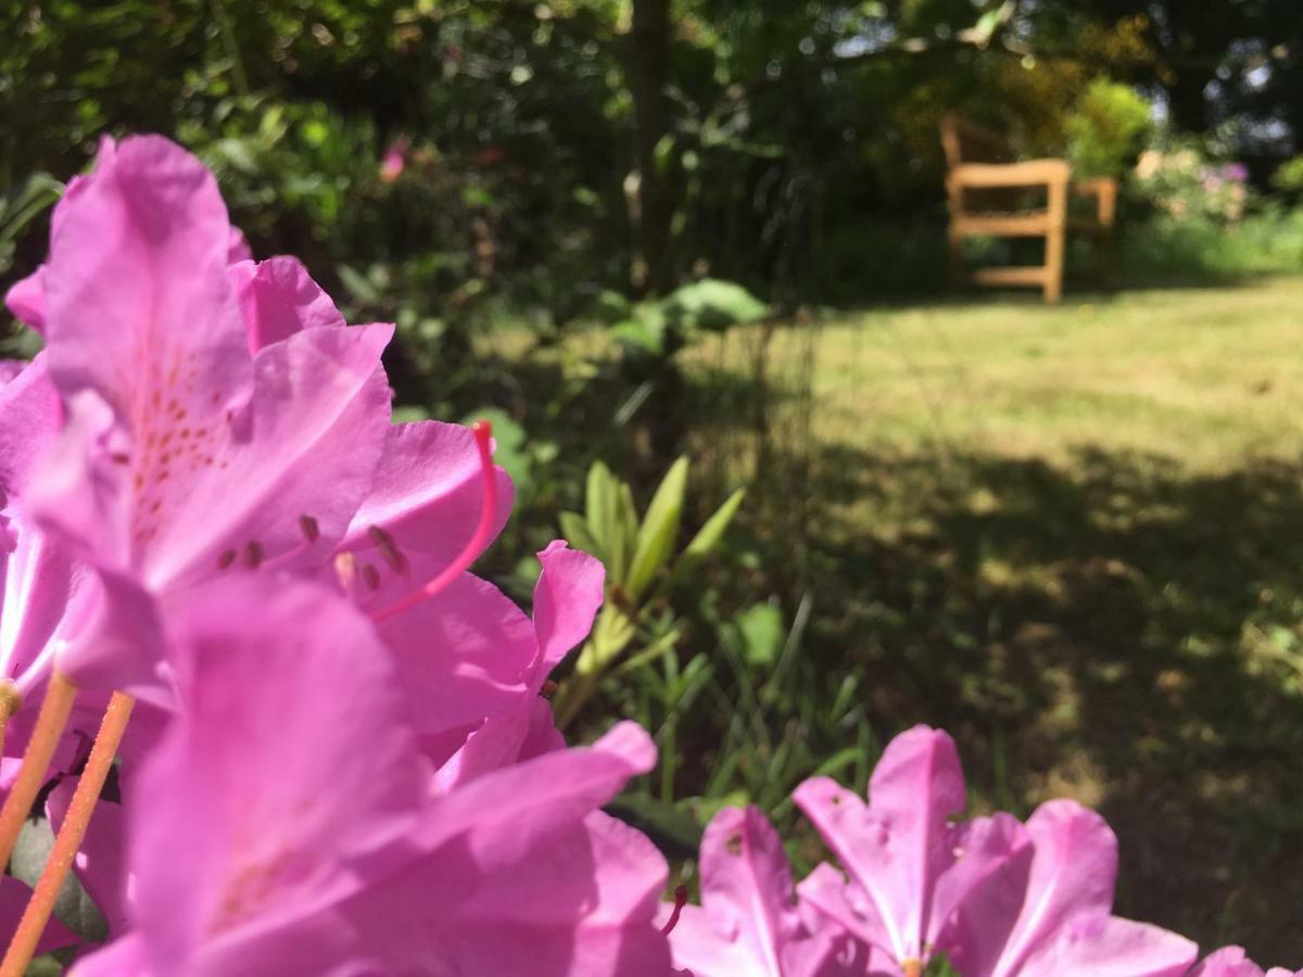
<path fill-rule="evenodd" d="M 172 615 L 185 709 L 139 774 L 133 911 L 159 973 L 201 943 L 310 914 L 351 860 L 408 834 L 429 770 L 369 623 L 315 586 L 255 577 Z"/>

